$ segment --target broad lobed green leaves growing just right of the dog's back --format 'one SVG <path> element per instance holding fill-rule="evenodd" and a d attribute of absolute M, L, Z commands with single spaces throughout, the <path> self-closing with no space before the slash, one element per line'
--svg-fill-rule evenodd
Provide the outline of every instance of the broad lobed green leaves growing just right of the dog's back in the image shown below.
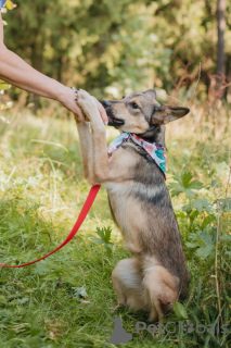
<path fill-rule="evenodd" d="M 191 172 L 175 173 L 172 178 L 175 182 L 168 185 L 171 196 L 178 197 L 184 194 L 188 199 L 188 203 L 182 207 L 183 215 L 189 219 L 191 232 L 185 246 L 194 250 L 194 256 L 201 261 L 206 260 L 206 264 L 203 262 L 203 269 L 208 271 L 216 257 L 217 208 L 224 209 L 224 201 L 229 208 L 229 199 L 220 199 L 216 202 L 216 200 L 200 197 L 200 190 L 202 188 L 207 190 L 209 186 L 206 185 L 205 188 L 200 181 L 193 179 Z M 220 237 L 220 252 L 229 253 L 226 246 L 222 245 L 222 240 L 229 240 L 229 237 Z"/>

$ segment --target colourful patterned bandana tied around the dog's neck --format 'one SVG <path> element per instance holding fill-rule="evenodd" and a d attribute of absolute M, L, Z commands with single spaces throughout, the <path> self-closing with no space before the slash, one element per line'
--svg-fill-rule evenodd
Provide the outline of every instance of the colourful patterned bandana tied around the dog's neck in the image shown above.
<path fill-rule="evenodd" d="M 164 153 L 164 148 L 156 144 L 156 142 L 150 142 L 142 138 L 139 138 L 133 133 L 127 133 L 123 132 L 117 138 L 115 138 L 107 148 L 107 153 L 112 154 L 113 151 L 115 151 L 123 142 L 125 142 L 127 139 L 131 139 L 134 144 L 141 146 L 155 161 L 155 163 L 158 165 L 158 167 L 162 170 L 162 172 L 165 175 L 166 179 L 166 154 Z"/>

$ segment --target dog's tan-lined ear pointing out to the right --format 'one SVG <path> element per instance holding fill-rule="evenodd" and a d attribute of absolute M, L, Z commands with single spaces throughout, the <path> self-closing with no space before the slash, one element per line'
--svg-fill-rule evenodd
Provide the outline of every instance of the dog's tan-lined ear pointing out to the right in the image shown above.
<path fill-rule="evenodd" d="M 161 105 L 152 116 L 153 124 L 166 124 L 168 122 L 181 119 L 190 112 L 189 108 Z"/>

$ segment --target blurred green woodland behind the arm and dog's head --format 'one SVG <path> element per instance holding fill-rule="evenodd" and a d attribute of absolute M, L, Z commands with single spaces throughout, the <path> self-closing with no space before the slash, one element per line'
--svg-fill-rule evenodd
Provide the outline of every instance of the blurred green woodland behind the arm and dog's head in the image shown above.
<path fill-rule="evenodd" d="M 226 0 L 15 3 L 14 11 L 3 13 L 5 45 L 67 86 L 100 99 L 155 88 L 161 99 L 171 94 L 231 101 L 231 5 Z M 14 4 L 8 1 L 8 8 Z M 21 94 L 10 91 L 14 100 Z M 24 102 L 38 109 L 41 101 L 30 96 Z"/>

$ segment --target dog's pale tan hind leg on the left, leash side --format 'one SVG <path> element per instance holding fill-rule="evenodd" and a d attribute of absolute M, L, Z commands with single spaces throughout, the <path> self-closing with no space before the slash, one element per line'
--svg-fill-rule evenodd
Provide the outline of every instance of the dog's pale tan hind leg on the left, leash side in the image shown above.
<path fill-rule="evenodd" d="M 146 310 L 139 260 L 132 258 L 119 261 L 112 273 L 112 279 L 117 294 L 118 306 Z"/>

